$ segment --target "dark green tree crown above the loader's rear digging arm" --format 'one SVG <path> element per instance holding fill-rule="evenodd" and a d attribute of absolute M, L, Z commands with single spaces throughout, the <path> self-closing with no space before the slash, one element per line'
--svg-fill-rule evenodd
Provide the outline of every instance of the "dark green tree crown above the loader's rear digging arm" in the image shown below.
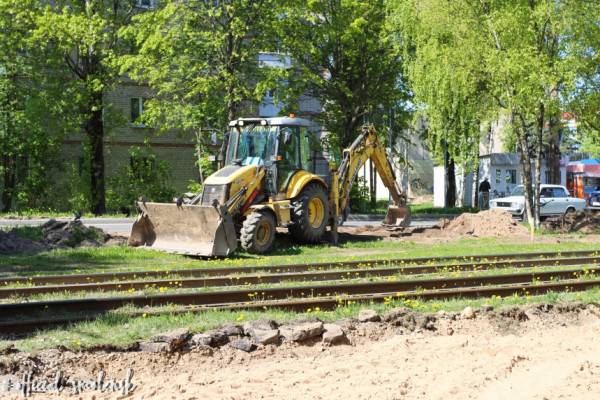
<path fill-rule="evenodd" d="M 323 112 L 317 119 L 334 149 L 351 144 L 367 121 L 389 125 L 385 116 L 390 109 L 402 110 L 405 92 L 385 2 L 294 1 L 283 14 L 282 45 L 295 66 L 286 103 L 294 104 L 303 93 L 319 99 Z"/>

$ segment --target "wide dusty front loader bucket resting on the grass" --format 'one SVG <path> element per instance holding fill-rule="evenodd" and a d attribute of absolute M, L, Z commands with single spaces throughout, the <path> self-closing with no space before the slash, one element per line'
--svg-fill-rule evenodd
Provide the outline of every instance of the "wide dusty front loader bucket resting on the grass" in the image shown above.
<path fill-rule="evenodd" d="M 173 203 L 137 203 L 141 214 L 134 222 L 128 245 L 169 253 L 227 256 L 237 248 L 231 216 L 215 207 Z"/>

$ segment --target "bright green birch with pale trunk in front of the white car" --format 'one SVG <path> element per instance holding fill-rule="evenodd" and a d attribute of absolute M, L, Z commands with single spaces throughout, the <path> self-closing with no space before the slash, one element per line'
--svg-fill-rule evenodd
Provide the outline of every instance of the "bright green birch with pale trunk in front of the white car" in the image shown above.
<path fill-rule="evenodd" d="M 508 134 L 521 158 L 525 214 L 532 229 L 537 227 L 541 163 L 550 121 L 565 109 L 564 99 L 586 71 L 597 67 L 590 62 L 597 60 L 597 49 L 590 48 L 588 39 L 598 30 L 598 3 L 399 0 L 397 5 L 412 10 L 412 16 L 439 16 L 428 20 L 431 29 L 446 29 L 446 45 L 458 50 L 454 56 L 459 57 L 460 68 L 450 64 L 450 76 L 458 82 L 465 72 L 477 77 L 479 101 L 494 104 L 498 115 L 507 116 Z"/>

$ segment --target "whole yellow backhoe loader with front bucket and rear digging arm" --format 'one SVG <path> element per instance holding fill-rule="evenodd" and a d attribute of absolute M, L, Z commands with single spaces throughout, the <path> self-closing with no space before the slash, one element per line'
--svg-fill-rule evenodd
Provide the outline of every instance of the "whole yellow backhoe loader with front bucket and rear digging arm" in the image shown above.
<path fill-rule="evenodd" d="M 346 219 L 350 188 L 372 160 L 393 200 L 385 224 L 407 226 L 410 209 L 385 148 L 372 126 L 344 150 L 339 168 L 323 155 L 318 130 L 295 117 L 242 118 L 230 122 L 225 166 L 209 176 L 202 193 L 172 204 L 140 201 L 130 246 L 173 253 L 227 256 L 241 247 L 266 253 L 277 227 L 300 243 L 318 243 L 330 225 Z"/>

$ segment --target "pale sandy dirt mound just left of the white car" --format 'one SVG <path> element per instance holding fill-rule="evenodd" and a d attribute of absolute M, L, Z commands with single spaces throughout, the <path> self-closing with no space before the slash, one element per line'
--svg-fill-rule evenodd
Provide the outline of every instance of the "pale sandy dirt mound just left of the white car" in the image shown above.
<path fill-rule="evenodd" d="M 519 224 L 510 213 L 491 209 L 477 214 L 464 213 L 452 221 L 443 223 L 444 233 L 460 236 L 508 236 L 527 235 L 527 228 Z"/>

